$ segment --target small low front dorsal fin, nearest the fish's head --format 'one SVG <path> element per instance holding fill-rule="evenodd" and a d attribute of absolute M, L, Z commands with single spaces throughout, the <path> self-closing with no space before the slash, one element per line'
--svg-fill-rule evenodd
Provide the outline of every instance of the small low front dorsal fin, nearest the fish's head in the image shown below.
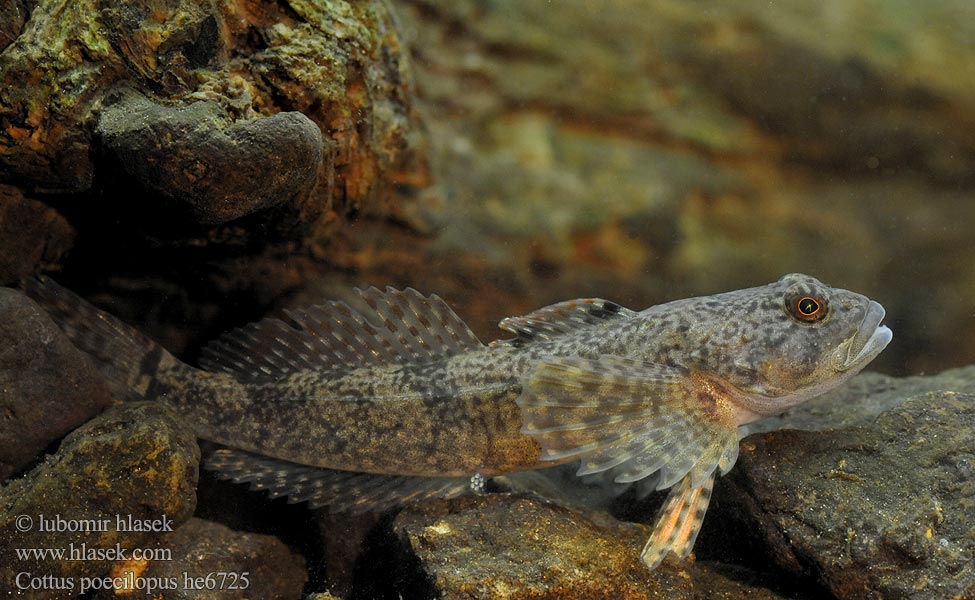
<path fill-rule="evenodd" d="M 498 327 L 518 337 L 498 340 L 495 345 L 548 340 L 583 328 L 607 325 L 619 319 L 629 319 L 636 314 L 635 311 L 602 298 L 566 300 L 527 315 L 503 319 Z"/>

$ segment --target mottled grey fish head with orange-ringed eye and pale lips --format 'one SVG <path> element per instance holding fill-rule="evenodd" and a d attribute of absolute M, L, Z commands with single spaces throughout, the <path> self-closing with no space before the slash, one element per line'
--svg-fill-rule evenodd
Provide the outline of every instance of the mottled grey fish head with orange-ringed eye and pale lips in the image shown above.
<path fill-rule="evenodd" d="M 695 327 L 704 334 L 698 344 L 707 349 L 701 362 L 740 396 L 747 407 L 743 422 L 836 387 L 893 337 L 879 303 L 808 275 L 711 298 L 717 302 L 708 303 Z"/>

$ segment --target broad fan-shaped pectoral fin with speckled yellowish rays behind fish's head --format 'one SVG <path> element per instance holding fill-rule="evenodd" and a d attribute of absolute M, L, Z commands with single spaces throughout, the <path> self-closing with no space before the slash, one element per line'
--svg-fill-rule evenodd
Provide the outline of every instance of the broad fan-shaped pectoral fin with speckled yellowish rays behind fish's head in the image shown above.
<path fill-rule="evenodd" d="M 736 423 L 710 414 L 678 367 L 617 356 L 543 361 L 517 402 L 542 459 L 579 456 L 580 475 L 612 470 L 629 483 L 657 474 L 657 489 L 689 475 L 696 487 L 738 457 Z"/>

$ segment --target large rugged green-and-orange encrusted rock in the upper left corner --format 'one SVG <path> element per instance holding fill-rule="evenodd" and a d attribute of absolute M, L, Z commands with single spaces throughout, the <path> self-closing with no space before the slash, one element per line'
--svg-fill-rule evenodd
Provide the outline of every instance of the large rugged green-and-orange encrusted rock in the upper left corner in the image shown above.
<path fill-rule="evenodd" d="M 229 140 L 217 142 L 215 156 L 191 144 L 194 151 L 175 161 L 194 167 L 185 177 L 195 179 L 198 200 L 201 188 L 212 200 L 222 192 L 245 195 L 242 180 L 248 176 L 253 195 L 287 193 L 317 171 L 321 185 L 288 218 L 278 215 L 282 222 L 304 225 L 296 226 L 300 234 L 322 225 L 319 219 L 336 221 L 335 214 L 327 217 L 333 207 L 395 214 L 410 196 L 398 190 L 429 184 L 407 50 L 383 0 L 16 0 L 0 11 L 0 44 L 6 45 L 0 54 L 0 181 L 68 195 L 92 190 L 96 173 L 111 183 L 114 158 L 98 152 L 93 132 L 104 120 L 99 111 L 116 90 L 129 87 L 151 91 L 154 102 L 174 111 L 192 112 L 199 110 L 190 109 L 194 102 L 212 102 L 239 124 L 225 132 Z M 291 112 L 313 121 L 325 141 L 316 140 L 309 123 L 294 114 L 276 117 Z M 160 133 L 167 131 L 179 133 L 172 127 Z M 201 131 L 196 135 L 214 143 Z M 135 144 L 141 154 L 122 157 L 129 172 L 151 169 L 142 163 L 158 158 L 170 143 L 159 140 L 157 147 L 148 141 Z M 312 156 L 316 141 L 325 160 Z M 171 143 L 186 147 L 179 139 Z M 194 163 L 192 157 L 207 160 Z M 232 177 L 224 163 L 235 158 L 242 171 Z M 295 174 L 299 181 L 286 185 L 283 180 Z M 174 184 L 180 181 L 189 184 L 183 179 Z M 176 189 L 158 178 L 148 183 Z M 132 192 L 112 191 L 119 201 Z M 254 201 L 251 208 L 266 201 Z M 205 222 L 241 212 L 246 210 L 208 210 Z"/>

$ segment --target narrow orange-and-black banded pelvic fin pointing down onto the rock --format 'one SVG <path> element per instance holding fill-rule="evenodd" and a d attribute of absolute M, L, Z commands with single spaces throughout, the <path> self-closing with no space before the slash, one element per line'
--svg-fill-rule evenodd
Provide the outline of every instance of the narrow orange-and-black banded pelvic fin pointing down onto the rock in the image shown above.
<path fill-rule="evenodd" d="M 714 473 L 697 487 L 692 487 L 690 476 L 671 489 L 660 509 L 657 524 L 647 540 L 640 558 L 650 570 L 657 568 L 668 552 L 678 558 L 686 558 L 694 548 L 694 540 L 701 531 L 704 514 L 711 500 Z"/>

